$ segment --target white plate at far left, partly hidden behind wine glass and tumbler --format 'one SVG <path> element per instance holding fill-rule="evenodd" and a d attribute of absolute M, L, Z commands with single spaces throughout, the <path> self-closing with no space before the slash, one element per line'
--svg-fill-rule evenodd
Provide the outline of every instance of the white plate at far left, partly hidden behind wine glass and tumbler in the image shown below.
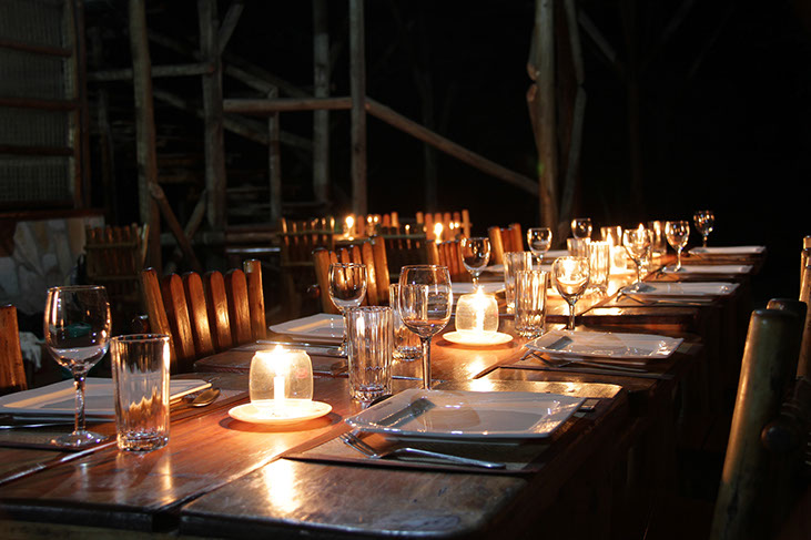
<path fill-rule="evenodd" d="M 199 379 L 172 379 L 172 399 L 202 390 L 211 383 Z M 113 400 L 115 389 L 112 379 L 88 377 L 84 381 L 84 410 L 88 418 L 112 418 L 115 416 Z M 0 397 L 0 414 L 38 418 L 73 416 L 75 389 L 73 380 L 61 380 L 41 388 L 18 391 Z"/>

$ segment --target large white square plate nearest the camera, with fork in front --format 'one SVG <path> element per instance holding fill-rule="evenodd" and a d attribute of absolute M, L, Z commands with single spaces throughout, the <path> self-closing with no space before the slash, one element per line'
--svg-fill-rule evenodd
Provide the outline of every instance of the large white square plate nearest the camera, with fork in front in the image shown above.
<path fill-rule="evenodd" d="M 392 426 L 378 424 L 426 398 L 434 407 Z M 584 398 L 529 391 L 407 389 L 346 418 L 355 429 L 426 439 L 531 439 L 549 437 Z"/>

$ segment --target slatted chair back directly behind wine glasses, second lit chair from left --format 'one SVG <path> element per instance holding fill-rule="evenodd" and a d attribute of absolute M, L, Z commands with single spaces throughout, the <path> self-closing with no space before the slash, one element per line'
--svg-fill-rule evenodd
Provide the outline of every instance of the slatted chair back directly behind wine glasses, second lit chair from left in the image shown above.
<path fill-rule="evenodd" d="M 317 279 L 321 307 L 324 313 L 339 313 L 330 298 L 330 265 L 332 263 L 359 263 L 366 265 L 366 298 L 364 304 L 388 304 L 388 263 L 386 246 L 379 238 L 371 238 L 358 245 L 330 251 L 320 247 L 313 251 L 313 263 Z"/>

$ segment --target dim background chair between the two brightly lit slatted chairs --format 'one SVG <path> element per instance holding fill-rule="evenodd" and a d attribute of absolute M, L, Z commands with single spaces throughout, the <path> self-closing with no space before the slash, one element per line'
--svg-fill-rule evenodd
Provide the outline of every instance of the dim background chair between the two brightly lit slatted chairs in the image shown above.
<path fill-rule="evenodd" d="M 320 217 L 307 221 L 281 220 L 280 267 L 282 271 L 282 306 L 286 317 L 302 314 L 308 288 L 315 283 L 313 249 L 335 248 L 335 220 Z"/>

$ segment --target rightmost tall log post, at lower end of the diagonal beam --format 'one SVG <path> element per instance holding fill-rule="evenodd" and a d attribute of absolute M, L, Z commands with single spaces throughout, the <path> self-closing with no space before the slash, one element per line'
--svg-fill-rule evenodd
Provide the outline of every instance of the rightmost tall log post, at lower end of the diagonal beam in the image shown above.
<path fill-rule="evenodd" d="M 554 231 L 558 228 L 557 211 L 557 124 L 555 119 L 555 2 L 535 2 L 535 83 L 538 88 L 536 110 L 538 119 L 538 160 L 540 189 L 540 221 Z"/>

